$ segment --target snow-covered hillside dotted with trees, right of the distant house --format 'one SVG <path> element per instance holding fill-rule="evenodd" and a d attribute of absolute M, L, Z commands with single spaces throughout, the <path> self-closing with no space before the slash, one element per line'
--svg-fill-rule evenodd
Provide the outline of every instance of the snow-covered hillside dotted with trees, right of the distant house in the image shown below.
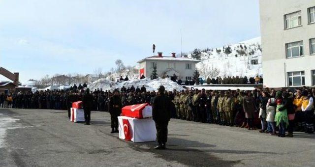
<path fill-rule="evenodd" d="M 200 56 L 202 61 L 197 64 L 200 77 L 262 76 L 260 41 L 260 37 L 256 37 L 226 45 L 224 48 L 202 50 Z M 224 53 L 227 47 L 230 47 L 231 51 L 228 55 Z"/>

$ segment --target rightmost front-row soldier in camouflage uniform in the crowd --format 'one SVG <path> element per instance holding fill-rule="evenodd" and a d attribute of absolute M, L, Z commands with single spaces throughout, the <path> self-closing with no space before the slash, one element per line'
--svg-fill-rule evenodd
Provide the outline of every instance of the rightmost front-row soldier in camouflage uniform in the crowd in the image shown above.
<path fill-rule="evenodd" d="M 234 98 L 231 97 L 228 91 L 225 91 L 224 94 L 224 104 L 223 110 L 226 116 L 226 126 L 233 126 L 233 107 L 234 107 Z"/>

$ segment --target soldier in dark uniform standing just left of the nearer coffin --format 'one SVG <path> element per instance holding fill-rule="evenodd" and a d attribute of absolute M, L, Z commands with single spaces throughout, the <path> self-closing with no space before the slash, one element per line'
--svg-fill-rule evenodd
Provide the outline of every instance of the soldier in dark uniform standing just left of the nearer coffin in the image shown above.
<path fill-rule="evenodd" d="M 111 119 L 111 133 L 118 133 L 118 116 L 122 111 L 122 99 L 117 89 L 114 90 L 114 95 L 109 100 L 108 111 Z"/>

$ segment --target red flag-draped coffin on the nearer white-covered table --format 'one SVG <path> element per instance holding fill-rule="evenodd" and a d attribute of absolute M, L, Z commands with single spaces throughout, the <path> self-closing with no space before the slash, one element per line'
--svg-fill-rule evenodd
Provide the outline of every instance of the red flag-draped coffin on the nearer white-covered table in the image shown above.
<path fill-rule="evenodd" d="M 152 117 L 152 107 L 148 103 L 126 106 L 122 115 L 139 119 Z"/>

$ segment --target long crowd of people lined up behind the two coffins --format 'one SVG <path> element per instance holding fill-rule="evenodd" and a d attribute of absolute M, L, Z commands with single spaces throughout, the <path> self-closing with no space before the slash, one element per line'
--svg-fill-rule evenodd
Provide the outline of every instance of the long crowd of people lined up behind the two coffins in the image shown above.
<path fill-rule="evenodd" d="M 4 108 L 21 109 L 55 109 L 68 110 L 75 101 L 81 101 L 86 94 L 84 86 L 73 86 L 68 90 L 18 92 L 12 95 L 0 95 L 0 106 Z M 303 92 L 303 93 L 302 93 Z M 289 93 L 289 94 L 288 94 Z M 240 90 L 173 90 L 163 93 L 174 104 L 170 112 L 171 118 L 215 123 L 225 126 L 237 126 L 248 129 L 261 128 L 260 132 L 276 133 L 275 115 L 276 100 L 281 99 L 287 111 L 289 137 L 293 131 L 314 132 L 314 103 L 315 89 L 295 88 L 294 92 L 275 89 L 240 91 Z M 303 94 L 303 96 L 302 96 Z M 153 104 L 158 92 L 147 91 L 146 87 L 121 87 L 115 93 L 95 89 L 87 99 L 89 111 L 110 111 L 113 113 L 112 132 L 117 129 L 117 115 L 122 107 L 141 103 Z M 9 104 L 9 105 L 8 105 Z M 283 113 L 283 112 L 282 112 Z M 295 116 L 293 115 L 295 114 Z M 292 116 L 293 115 L 293 116 Z M 89 115 L 87 115 L 89 117 Z M 90 120 L 88 120 L 89 122 Z M 277 125 L 278 126 L 278 125 Z"/>

